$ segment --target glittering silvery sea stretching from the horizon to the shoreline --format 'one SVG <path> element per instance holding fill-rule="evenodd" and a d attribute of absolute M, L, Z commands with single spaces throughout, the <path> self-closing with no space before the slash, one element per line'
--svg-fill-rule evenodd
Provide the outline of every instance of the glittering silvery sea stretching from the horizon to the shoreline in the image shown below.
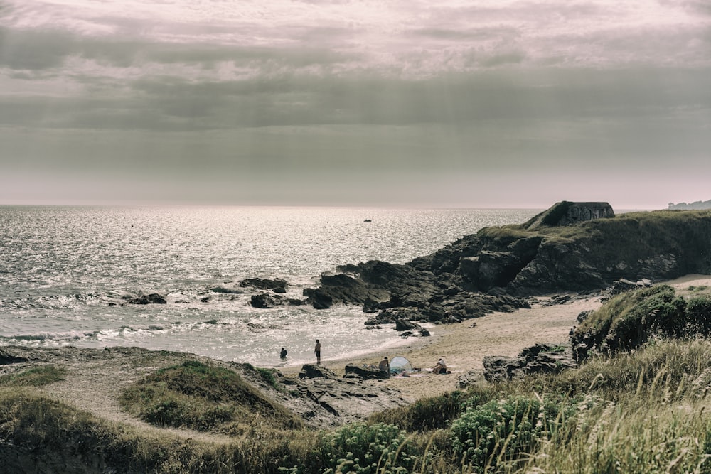
<path fill-rule="evenodd" d="M 407 341 L 366 330 L 358 307 L 252 308 L 237 282 L 281 278 L 285 296 L 303 298 L 337 265 L 405 263 L 537 212 L 0 206 L 0 345 L 139 346 L 260 367 L 314 362 L 316 339 L 324 360 L 386 350 Z M 168 304 L 125 302 L 148 293 Z"/>

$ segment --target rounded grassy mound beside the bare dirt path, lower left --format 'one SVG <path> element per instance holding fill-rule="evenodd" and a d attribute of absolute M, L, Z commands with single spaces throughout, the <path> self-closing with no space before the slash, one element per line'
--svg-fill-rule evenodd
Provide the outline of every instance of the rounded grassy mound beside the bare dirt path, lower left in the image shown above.
<path fill-rule="evenodd" d="M 224 433 L 242 433 L 265 423 L 301 428 L 301 420 L 237 372 L 195 360 L 156 370 L 125 390 L 121 403 L 129 413 L 156 426 Z"/>

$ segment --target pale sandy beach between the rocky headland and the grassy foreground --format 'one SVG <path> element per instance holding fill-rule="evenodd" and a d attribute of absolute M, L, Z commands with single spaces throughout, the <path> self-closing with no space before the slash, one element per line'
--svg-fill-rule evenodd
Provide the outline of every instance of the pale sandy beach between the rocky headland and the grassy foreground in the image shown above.
<path fill-rule="evenodd" d="M 673 286 L 679 294 L 685 294 L 689 286 L 711 286 L 707 275 L 687 275 L 660 284 Z M 399 389 L 404 397 L 413 401 L 422 397 L 450 392 L 457 388 L 457 377 L 467 372 L 483 373 L 482 360 L 487 355 L 515 356 L 536 343 L 562 343 L 570 329 L 577 324 L 577 316 L 583 311 L 599 308 L 600 296 L 573 298 L 570 302 L 548 306 L 551 296 L 541 296 L 531 308 L 513 313 L 491 313 L 452 325 L 436 325 L 429 338 L 413 338 L 410 345 L 395 348 L 391 352 L 378 352 L 350 360 L 328 360 L 322 355 L 323 365 L 343 375 L 348 363 L 356 365 L 377 364 L 383 356 L 389 359 L 400 355 L 410 360 L 413 367 L 431 369 L 439 357 L 444 357 L 451 374 L 433 375 L 422 372 L 417 377 L 395 377 L 381 383 Z M 472 327 L 472 325 L 474 327 Z M 383 329 L 385 330 L 385 329 Z M 287 376 L 298 374 L 300 367 L 284 367 Z"/>

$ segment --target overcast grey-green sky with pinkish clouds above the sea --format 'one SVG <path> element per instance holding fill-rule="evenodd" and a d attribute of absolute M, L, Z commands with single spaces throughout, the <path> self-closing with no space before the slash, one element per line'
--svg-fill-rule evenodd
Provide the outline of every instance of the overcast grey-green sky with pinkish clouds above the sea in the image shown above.
<path fill-rule="evenodd" d="M 711 199 L 710 0 L 0 0 L 0 203 Z"/>

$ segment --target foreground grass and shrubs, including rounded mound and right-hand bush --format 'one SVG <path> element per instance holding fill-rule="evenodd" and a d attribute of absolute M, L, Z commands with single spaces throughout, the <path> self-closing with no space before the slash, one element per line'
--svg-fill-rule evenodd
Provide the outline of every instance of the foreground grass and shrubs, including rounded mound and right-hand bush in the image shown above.
<path fill-rule="evenodd" d="M 156 426 L 228 433 L 221 443 L 102 421 L 3 377 L 0 440 L 127 472 L 711 473 L 711 342 L 700 335 L 710 313 L 708 296 L 680 298 L 669 286 L 625 293 L 581 328 L 637 338 L 634 348 L 333 430 L 302 429 L 236 372 L 203 362 L 156 370 L 124 394 L 127 409 Z"/>

